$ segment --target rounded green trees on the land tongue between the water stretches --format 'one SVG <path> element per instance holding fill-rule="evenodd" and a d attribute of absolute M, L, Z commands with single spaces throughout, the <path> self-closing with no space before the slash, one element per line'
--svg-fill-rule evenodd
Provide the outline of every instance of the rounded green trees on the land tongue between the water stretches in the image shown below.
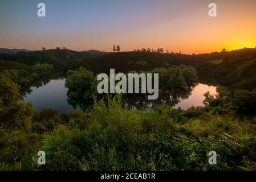
<path fill-rule="evenodd" d="M 191 66 L 174 66 L 169 68 L 155 68 L 151 71 L 129 71 L 128 73 L 159 73 L 160 93 L 166 90 L 189 90 L 189 87 L 198 82 L 196 70 Z M 127 73 L 127 79 L 128 79 Z M 78 71 L 68 71 L 65 85 L 68 88 L 69 98 L 92 98 L 97 93 L 96 75 L 86 68 Z M 127 81 L 128 82 L 128 81 Z M 128 92 L 128 91 L 127 91 Z"/>

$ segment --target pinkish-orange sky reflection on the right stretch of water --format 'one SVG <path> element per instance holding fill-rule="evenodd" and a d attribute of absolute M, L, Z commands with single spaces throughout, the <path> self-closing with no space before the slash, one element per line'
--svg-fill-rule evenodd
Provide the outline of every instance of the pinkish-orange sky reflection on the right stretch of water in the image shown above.
<path fill-rule="evenodd" d="M 210 94 L 216 94 L 216 86 L 209 86 L 205 84 L 198 84 L 192 91 L 189 98 L 182 100 L 177 105 L 174 106 L 175 109 L 181 107 L 181 109 L 188 109 L 192 106 L 203 106 L 202 103 L 205 100 L 204 94 L 206 92 Z"/>

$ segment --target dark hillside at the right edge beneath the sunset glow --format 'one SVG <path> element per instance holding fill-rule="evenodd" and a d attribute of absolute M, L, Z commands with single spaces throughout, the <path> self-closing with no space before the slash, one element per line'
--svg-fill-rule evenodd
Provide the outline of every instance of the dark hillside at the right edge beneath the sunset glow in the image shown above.
<path fill-rule="evenodd" d="M 204 77 L 217 80 L 231 90 L 253 90 L 256 85 L 256 48 L 227 52 L 220 64 L 204 63 L 197 66 Z"/>

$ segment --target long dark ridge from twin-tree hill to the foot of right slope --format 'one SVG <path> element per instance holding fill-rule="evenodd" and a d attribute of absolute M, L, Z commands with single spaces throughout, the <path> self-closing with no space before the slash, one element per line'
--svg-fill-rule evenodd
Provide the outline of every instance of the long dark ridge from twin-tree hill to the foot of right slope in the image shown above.
<path fill-rule="evenodd" d="M 72 61 L 69 69 L 84 67 L 95 73 L 108 73 L 110 68 L 117 72 L 149 71 L 153 68 L 169 67 L 170 65 L 186 64 L 199 67 L 208 60 L 220 59 L 217 54 L 185 55 L 181 53 L 156 53 L 156 52 L 109 52 L 103 55 Z"/>

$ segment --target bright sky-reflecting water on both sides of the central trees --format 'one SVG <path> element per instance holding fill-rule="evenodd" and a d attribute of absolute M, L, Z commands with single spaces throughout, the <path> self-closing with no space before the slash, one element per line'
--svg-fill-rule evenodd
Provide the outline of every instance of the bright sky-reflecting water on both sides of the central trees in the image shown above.
<path fill-rule="evenodd" d="M 26 94 L 24 100 L 26 102 L 32 102 L 38 111 L 42 110 L 44 107 L 53 107 L 58 109 L 60 113 L 70 109 L 76 109 L 74 102 L 69 101 L 68 103 L 68 89 L 64 86 L 64 83 L 65 78 L 59 78 L 50 80 L 47 84 L 39 88 L 31 87 L 32 92 Z M 194 87 L 190 95 L 183 99 L 180 97 L 178 104 L 174 105 L 174 108 L 181 107 L 181 109 L 188 109 L 192 106 L 202 106 L 204 93 L 208 91 L 212 94 L 216 94 L 216 87 L 198 84 Z"/>

